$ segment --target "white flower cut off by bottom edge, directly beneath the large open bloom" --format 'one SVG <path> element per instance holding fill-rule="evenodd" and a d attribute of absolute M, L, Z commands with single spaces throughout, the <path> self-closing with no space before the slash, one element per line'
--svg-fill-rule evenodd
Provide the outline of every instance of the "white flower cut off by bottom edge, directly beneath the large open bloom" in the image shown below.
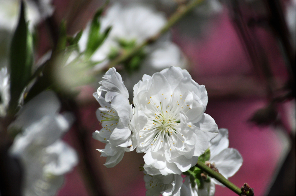
<path fill-rule="evenodd" d="M 180 195 L 183 178 L 179 174 L 149 175 L 144 171 L 146 195 Z"/>

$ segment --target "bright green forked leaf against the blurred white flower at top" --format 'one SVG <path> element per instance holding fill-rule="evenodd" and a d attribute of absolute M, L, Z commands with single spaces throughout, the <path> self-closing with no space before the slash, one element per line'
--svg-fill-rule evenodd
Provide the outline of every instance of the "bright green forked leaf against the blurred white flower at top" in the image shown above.
<path fill-rule="evenodd" d="M 111 30 L 111 27 L 108 27 L 106 30 L 104 30 L 103 33 L 100 32 L 99 18 L 101 17 L 106 5 L 107 5 L 107 2 L 104 4 L 104 6 L 102 6 L 96 11 L 91 21 L 91 26 L 89 29 L 89 37 L 86 43 L 86 51 L 85 51 L 86 58 L 91 57 L 91 55 L 106 39 L 106 37 L 108 36 Z"/>

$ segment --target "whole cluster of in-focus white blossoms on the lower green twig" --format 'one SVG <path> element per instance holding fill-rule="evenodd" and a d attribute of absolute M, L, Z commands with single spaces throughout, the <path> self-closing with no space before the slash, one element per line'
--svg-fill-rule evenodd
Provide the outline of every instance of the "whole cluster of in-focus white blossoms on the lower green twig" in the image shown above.
<path fill-rule="evenodd" d="M 170 66 L 152 76 L 144 74 L 133 87 L 133 105 L 115 68 L 99 83 L 94 97 L 101 105 L 96 115 L 103 128 L 93 137 L 106 143 L 99 150 L 107 156 L 105 166 L 118 164 L 124 151 L 144 152 L 147 195 L 213 195 L 218 181 L 201 171 L 198 181 L 190 178 L 197 160 L 226 178 L 242 165 L 239 152 L 228 148 L 228 130 L 218 130 L 215 120 L 204 113 L 205 86 L 186 70 Z M 187 175 L 184 183 L 181 174 Z"/>

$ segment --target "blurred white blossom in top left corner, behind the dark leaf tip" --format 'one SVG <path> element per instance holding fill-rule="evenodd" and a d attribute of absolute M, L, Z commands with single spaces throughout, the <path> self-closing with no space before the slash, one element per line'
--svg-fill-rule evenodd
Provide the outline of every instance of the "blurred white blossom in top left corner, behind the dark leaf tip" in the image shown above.
<path fill-rule="evenodd" d="M 52 0 L 40 0 L 42 12 L 40 13 L 36 1 L 25 0 L 25 18 L 29 21 L 29 29 L 33 30 L 34 25 L 41 22 L 45 17 L 52 15 L 54 9 L 50 5 Z M 19 0 L 0 0 L 0 29 L 13 31 L 17 26 L 20 15 Z"/>

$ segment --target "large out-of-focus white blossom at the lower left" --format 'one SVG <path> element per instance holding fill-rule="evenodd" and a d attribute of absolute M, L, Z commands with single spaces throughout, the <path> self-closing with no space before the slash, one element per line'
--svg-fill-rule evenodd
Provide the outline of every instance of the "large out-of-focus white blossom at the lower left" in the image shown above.
<path fill-rule="evenodd" d="M 9 126 L 21 130 L 9 151 L 21 160 L 24 169 L 23 195 L 55 195 L 64 174 L 78 163 L 73 148 L 60 138 L 71 127 L 70 113 L 57 113 L 60 103 L 51 92 L 42 92 L 26 103 Z"/>

